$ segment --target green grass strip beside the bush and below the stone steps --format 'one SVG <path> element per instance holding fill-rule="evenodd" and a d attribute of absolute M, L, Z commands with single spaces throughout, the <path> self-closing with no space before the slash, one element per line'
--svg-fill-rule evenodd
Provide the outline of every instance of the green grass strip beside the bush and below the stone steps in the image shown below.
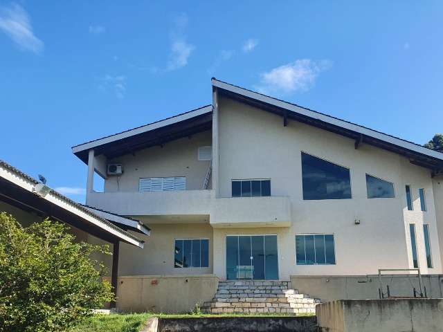
<path fill-rule="evenodd" d="M 168 313 L 128 313 L 128 314 L 97 314 L 84 320 L 72 332 L 138 332 L 149 317 L 161 318 L 198 318 L 198 317 L 275 317 L 288 316 L 284 313 L 226 313 L 226 314 L 168 314 Z M 305 314 L 309 315 L 309 314 Z"/>

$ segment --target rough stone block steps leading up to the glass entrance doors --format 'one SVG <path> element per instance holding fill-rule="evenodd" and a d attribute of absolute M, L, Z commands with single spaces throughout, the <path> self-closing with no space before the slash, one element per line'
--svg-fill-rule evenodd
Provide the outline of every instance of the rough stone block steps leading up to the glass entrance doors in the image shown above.
<path fill-rule="evenodd" d="M 299 294 L 291 282 L 219 282 L 211 302 L 205 302 L 205 313 L 315 313 L 320 299 Z"/>

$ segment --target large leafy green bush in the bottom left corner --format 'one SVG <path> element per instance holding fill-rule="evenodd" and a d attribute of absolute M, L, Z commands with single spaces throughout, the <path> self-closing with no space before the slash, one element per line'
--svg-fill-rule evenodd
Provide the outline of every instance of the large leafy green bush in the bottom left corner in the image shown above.
<path fill-rule="evenodd" d="M 22 227 L 0 213 L 0 331 L 66 331 L 91 309 L 114 299 L 93 252 L 106 246 L 75 243 L 62 223 Z"/>

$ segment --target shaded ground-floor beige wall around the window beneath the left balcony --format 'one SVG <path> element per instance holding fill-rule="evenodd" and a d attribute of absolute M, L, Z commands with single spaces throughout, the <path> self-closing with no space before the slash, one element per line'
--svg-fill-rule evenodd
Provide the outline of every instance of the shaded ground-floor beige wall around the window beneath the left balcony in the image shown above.
<path fill-rule="evenodd" d="M 150 224 L 151 236 L 137 234 L 145 240 L 143 249 L 120 243 L 118 274 L 127 275 L 204 275 L 213 273 L 213 228 L 208 223 Z M 175 239 L 209 239 L 208 268 L 174 268 Z"/>

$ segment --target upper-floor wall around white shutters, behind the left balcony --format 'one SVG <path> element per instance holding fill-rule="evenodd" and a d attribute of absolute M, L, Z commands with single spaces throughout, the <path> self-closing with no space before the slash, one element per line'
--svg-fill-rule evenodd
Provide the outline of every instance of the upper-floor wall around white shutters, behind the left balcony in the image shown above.
<path fill-rule="evenodd" d="M 165 143 L 163 147 L 109 159 L 108 163 L 123 164 L 123 175 L 108 176 L 105 192 L 138 192 L 139 178 L 152 176 L 186 176 L 187 190 L 201 190 L 210 162 L 198 160 L 198 149 L 211 142 L 211 132 L 204 131 Z"/>

